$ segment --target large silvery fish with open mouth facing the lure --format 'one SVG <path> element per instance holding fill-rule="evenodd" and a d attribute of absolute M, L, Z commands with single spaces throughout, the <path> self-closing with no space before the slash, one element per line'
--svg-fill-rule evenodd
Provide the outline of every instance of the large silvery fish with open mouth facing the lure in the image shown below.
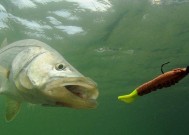
<path fill-rule="evenodd" d="M 22 103 L 92 109 L 97 83 L 85 77 L 51 46 L 24 39 L 0 48 L 0 95 L 6 97 L 5 120 L 13 120 Z"/>

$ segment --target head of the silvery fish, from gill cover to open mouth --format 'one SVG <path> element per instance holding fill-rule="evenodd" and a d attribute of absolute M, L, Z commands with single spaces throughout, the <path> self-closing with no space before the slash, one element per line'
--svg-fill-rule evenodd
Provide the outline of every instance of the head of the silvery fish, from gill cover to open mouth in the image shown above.
<path fill-rule="evenodd" d="M 60 54 L 53 51 L 45 51 L 36 56 L 19 73 L 16 86 L 21 91 L 25 89 L 22 94 L 27 100 L 45 106 L 97 106 L 96 83 L 83 76 Z"/>

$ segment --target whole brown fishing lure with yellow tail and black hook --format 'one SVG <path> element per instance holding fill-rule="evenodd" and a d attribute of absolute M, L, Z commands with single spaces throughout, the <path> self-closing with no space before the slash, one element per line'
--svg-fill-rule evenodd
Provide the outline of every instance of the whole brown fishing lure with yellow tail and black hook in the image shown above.
<path fill-rule="evenodd" d="M 139 87 L 137 87 L 132 93 L 128 95 L 122 95 L 118 96 L 118 99 L 126 102 L 131 103 L 135 100 L 138 96 L 146 95 L 152 91 L 156 91 L 157 89 L 161 89 L 164 87 L 170 87 L 172 85 L 175 85 L 178 83 L 181 79 L 183 79 L 186 75 L 189 73 L 189 66 L 186 68 L 176 68 L 168 72 L 163 72 L 162 68 L 165 64 L 164 63 L 161 66 L 161 72 L 162 74 L 157 76 L 156 78 L 152 79 L 149 82 L 146 82 Z"/>

